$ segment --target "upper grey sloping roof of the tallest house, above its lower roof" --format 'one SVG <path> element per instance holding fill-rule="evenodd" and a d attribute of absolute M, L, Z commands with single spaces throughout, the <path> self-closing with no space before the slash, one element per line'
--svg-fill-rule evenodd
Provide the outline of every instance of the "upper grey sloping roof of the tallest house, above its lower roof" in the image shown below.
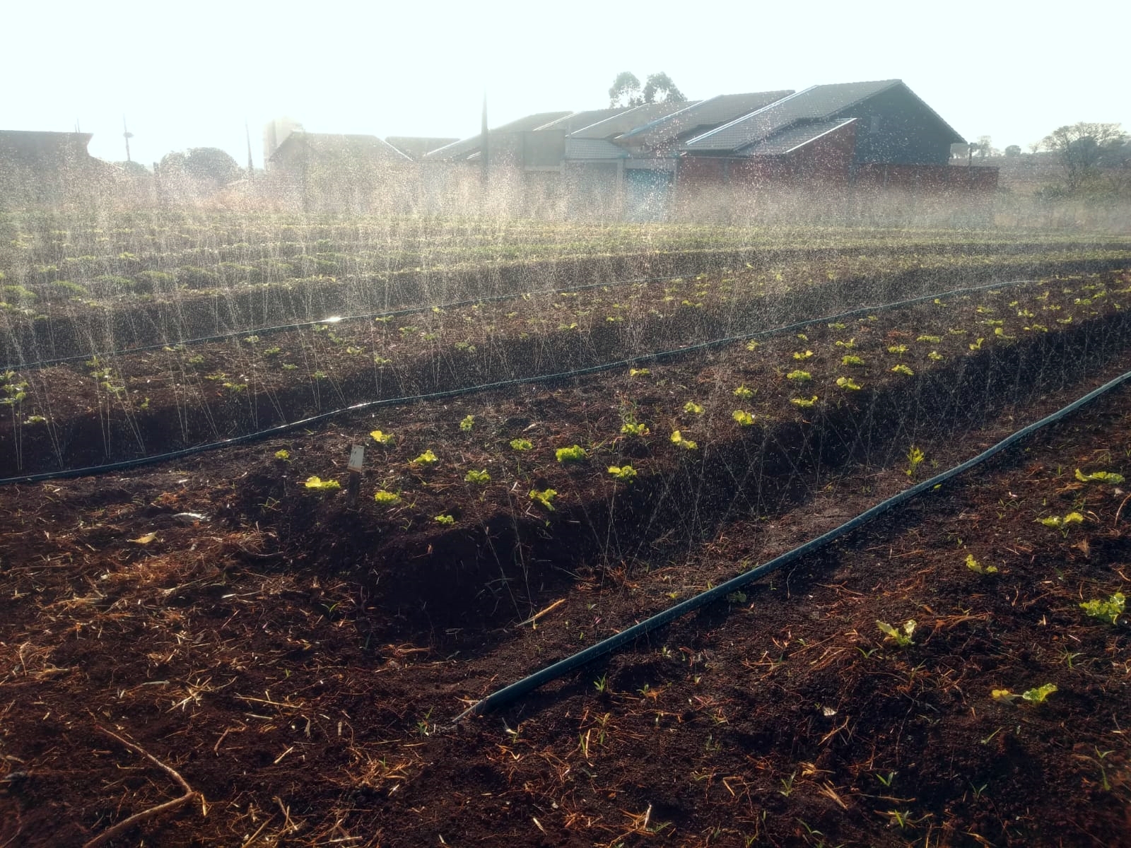
<path fill-rule="evenodd" d="M 683 145 L 683 149 L 737 150 L 798 121 L 828 120 L 837 112 L 897 85 L 903 83 L 898 79 L 884 79 L 875 83 L 812 86 L 692 138 Z"/>

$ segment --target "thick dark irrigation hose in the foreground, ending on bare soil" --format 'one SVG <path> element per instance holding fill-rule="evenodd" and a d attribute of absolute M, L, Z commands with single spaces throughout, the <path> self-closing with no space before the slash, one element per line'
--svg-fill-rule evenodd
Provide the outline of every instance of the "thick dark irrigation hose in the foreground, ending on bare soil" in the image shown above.
<path fill-rule="evenodd" d="M 815 551 L 820 551 L 822 547 L 826 547 L 827 545 L 840 538 L 841 536 L 845 536 L 852 533 L 853 530 L 863 527 L 869 521 L 879 518 L 884 512 L 888 512 L 906 503 L 913 497 L 917 497 L 918 495 L 925 492 L 930 492 L 934 488 L 938 488 L 943 483 L 948 483 L 958 475 L 969 470 L 970 468 L 974 468 L 975 466 L 985 462 L 991 457 L 1000 453 L 1007 448 L 1010 448 L 1013 444 L 1017 444 L 1019 441 L 1027 439 L 1029 435 L 1041 430 L 1042 427 L 1048 426 L 1050 424 L 1054 424 L 1061 421 L 1062 418 L 1067 417 L 1068 415 L 1071 415 L 1086 404 L 1091 403 L 1102 395 L 1112 391 L 1113 389 L 1122 386 L 1128 381 L 1131 381 L 1131 371 L 1128 371 L 1121 377 L 1117 377 L 1114 380 L 1104 383 L 1098 389 L 1089 391 L 1082 398 L 1072 401 L 1071 404 L 1063 407 L 1062 409 L 1059 409 L 1052 415 L 1047 415 L 1041 421 L 1029 424 L 1028 426 L 1022 427 L 1021 430 L 1018 430 L 1012 435 L 1002 439 L 992 448 L 983 451 L 982 453 L 978 453 L 973 459 L 967 459 L 961 465 L 957 465 L 953 468 L 943 471 L 942 474 L 938 474 L 934 477 L 931 477 L 931 479 L 917 483 L 910 488 L 906 488 L 899 494 L 893 495 L 887 499 L 886 501 L 881 501 L 871 509 L 861 512 L 855 518 L 840 525 L 836 529 L 829 530 L 828 533 L 822 534 L 821 536 L 818 536 L 817 538 L 811 539 L 806 542 L 804 545 L 795 547 L 792 551 L 782 554 L 780 556 L 776 556 L 769 562 L 762 563 L 761 565 L 757 565 L 750 569 L 749 571 L 744 571 L 737 577 L 731 578 L 725 583 L 719 583 L 713 589 L 708 589 L 707 591 L 700 592 L 694 597 L 688 598 L 687 600 L 676 604 L 675 606 L 668 607 L 667 609 L 664 609 L 663 612 L 653 615 L 650 618 L 645 618 L 642 622 L 633 624 L 632 626 L 622 630 L 620 633 L 616 633 L 615 635 L 612 635 L 608 639 L 604 639 L 597 642 L 596 644 L 586 648 L 584 651 L 579 651 L 578 654 L 575 654 L 571 657 L 567 657 L 566 659 L 561 659 L 554 663 L 553 665 L 546 666 L 542 670 L 535 672 L 534 674 L 529 675 L 528 677 L 524 677 L 517 683 L 511 683 L 509 686 L 504 686 L 503 689 L 492 692 L 483 700 L 478 701 L 477 703 L 473 704 L 472 707 L 469 707 L 468 709 L 464 710 L 458 716 L 456 716 L 456 718 L 452 719 L 452 725 L 458 724 L 468 716 L 481 712 L 487 712 L 491 710 L 499 709 L 500 707 L 506 707 L 507 704 L 516 701 L 517 699 L 521 698 L 525 694 L 528 694 L 529 692 L 533 692 L 535 689 L 538 689 L 539 686 L 542 686 L 545 683 L 549 683 L 550 681 L 556 680 L 558 677 L 561 677 L 562 675 L 568 674 L 569 672 L 580 668 L 592 663 L 593 660 L 605 656 L 606 654 L 612 654 L 618 648 L 628 644 L 629 642 L 639 639 L 640 637 L 650 633 L 657 628 L 662 628 L 665 624 L 668 624 L 694 609 L 699 609 L 700 607 L 703 607 L 716 600 L 720 600 L 725 598 L 727 595 L 729 595 L 732 591 L 736 591 L 745 587 L 746 585 L 753 582 L 754 580 L 758 580 L 759 578 L 765 577 L 766 574 L 777 571 L 784 565 L 788 565 L 789 563 L 800 560 L 802 556 L 814 553 Z"/>

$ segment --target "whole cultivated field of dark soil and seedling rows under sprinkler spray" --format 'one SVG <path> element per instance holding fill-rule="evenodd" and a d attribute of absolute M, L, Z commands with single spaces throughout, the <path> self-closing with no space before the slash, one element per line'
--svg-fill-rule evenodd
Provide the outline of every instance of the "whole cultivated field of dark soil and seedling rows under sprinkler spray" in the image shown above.
<path fill-rule="evenodd" d="M 1131 243 L 2 226 L 0 846 L 1125 841 L 1125 384 L 452 719 L 1126 372 Z"/>

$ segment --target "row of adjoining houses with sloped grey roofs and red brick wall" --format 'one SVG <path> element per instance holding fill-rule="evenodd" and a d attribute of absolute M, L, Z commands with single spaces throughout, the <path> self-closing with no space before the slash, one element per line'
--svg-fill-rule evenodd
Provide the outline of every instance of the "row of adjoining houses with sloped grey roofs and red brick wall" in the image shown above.
<path fill-rule="evenodd" d="M 898 79 L 529 115 L 432 150 L 428 164 L 521 174 L 527 199 L 659 217 L 705 190 L 883 189 L 985 197 L 994 168 L 957 168 L 962 137 Z M 497 176 L 498 174 L 498 176 Z M 434 181 L 434 180 L 433 180 Z M 549 202 L 549 201 L 547 201 Z"/>

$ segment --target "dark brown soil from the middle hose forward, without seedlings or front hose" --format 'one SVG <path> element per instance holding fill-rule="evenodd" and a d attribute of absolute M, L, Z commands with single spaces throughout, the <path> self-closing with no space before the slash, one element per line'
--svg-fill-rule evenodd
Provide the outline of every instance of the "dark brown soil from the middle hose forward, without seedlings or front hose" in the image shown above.
<path fill-rule="evenodd" d="M 1100 283 L 1043 301 L 1078 310 L 1047 332 L 1015 326 L 1041 320 L 1015 317 L 1020 302 L 935 308 L 959 329 L 1005 320 L 977 351 L 970 332 L 915 341 L 930 311 L 878 315 L 0 490 L 0 846 L 83 845 L 183 793 L 100 727 L 202 796 L 114 845 L 1131 843 L 1126 624 L 1080 607 L 1128 590 L 1131 503 L 1126 484 L 1074 475 L 1131 476 L 1125 388 L 742 596 L 449 727 L 899 491 L 909 445 L 950 467 L 1126 371 L 1125 312 L 1076 304 L 1098 291 L 1083 285 Z M 870 365 L 837 395 L 848 338 Z M 814 388 L 777 373 L 794 367 Z M 791 403 L 809 393 L 839 399 Z M 683 413 L 696 399 L 702 416 Z M 625 401 L 651 435 L 620 433 Z M 697 451 L 671 442 L 676 426 Z M 370 442 L 360 508 L 302 485 L 344 483 L 346 449 L 377 427 L 397 441 Z M 516 438 L 534 449 L 508 452 Z M 589 459 L 571 469 L 554 450 L 572 443 Z M 429 448 L 443 461 L 412 466 Z M 627 462 L 632 485 L 604 470 Z M 490 485 L 463 481 L 476 468 Z M 378 507 L 378 487 L 403 502 Z M 553 512 L 528 497 L 550 487 Z M 1037 522 L 1070 512 L 1082 521 L 1063 534 Z M 903 648 L 877 628 L 912 618 Z M 1044 703 L 992 695 L 1050 683 Z"/>

